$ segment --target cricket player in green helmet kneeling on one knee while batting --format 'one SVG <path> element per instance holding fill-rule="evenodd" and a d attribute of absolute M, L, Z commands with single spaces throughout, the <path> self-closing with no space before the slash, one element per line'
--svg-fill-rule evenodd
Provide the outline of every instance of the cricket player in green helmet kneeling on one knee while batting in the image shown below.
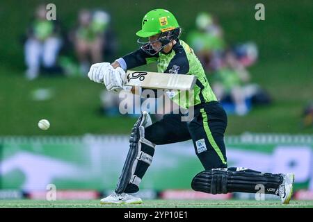
<path fill-rule="evenodd" d="M 139 184 L 152 163 L 154 146 L 189 139 L 192 139 L 195 154 L 205 169 L 193 178 L 191 187 L 194 190 L 209 194 L 256 193 L 259 191 L 256 186 L 262 184 L 265 194 L 280 196 L 282 203 L 289 203 L 293 173 L 273 174 L 241 167 L 227 168 L 224 144 L 227 115 L 218 103 L 193 49 L 179 39 L 180 33 L 181 28 L 171 12 L 151 10 L 143 17 L 142 28 L 136 33 L 138 37 L 147 38 L 146 42 L 138 40 L 142 44 L 140 49 L 118 58 L 111 65 L 102 62 L 90 67 L 90 80 L 104 83 L 106 89 L 113 92 L 126 89 L 123 80 L 127 69 L 148 62 L 157 62 L 158 72 L 197 77 L 193 88 L 194 101 L 179 104 L 184 108 L 193 107 L 193 119 L 182 121 L 182 114 L 165 114 L 163 119 L 152 124 L 149 114 L 143 112 L 131 130 L 129 153 L 115 192 L 103 198 L 101 203 L 142 203 L 141 198 L 134 194 L 138 192 Z"/>

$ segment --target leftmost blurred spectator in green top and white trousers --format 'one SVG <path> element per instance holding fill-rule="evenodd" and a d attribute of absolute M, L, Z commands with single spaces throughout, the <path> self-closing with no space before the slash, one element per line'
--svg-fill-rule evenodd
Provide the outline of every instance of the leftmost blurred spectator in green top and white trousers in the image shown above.
<path fill-rule="evenodd" d="M 60 28 L 56 21 L 46 19 L 46 6 L 40 5 L 35 10 L 35 19 L 27 30 L 24 44 L 26 78 L 32 80 L 38 77 L 40 67 L 49 73 L 58 72 L 56 65 L 61 49 Z"/>

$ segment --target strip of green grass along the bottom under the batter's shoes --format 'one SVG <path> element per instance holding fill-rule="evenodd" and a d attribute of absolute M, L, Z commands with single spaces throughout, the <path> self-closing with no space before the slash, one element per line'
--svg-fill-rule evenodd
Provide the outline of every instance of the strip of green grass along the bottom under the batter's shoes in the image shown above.
<path fill-rule="evenodd" d="M 289 205 L 265 200 L 145 200 L 141 205 L 101 205 L 99 200 L 0 200 L 0 208 L 313 208 L 313 200 Z"/>

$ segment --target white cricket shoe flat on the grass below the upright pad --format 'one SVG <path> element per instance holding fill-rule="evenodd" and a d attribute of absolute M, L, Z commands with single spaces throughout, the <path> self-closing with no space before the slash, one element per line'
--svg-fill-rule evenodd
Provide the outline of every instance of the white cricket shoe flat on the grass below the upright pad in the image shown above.
<path fill-rule="evenodd" d="M 143 200 L 131 194 L 116 194 L 115 192 L 100 200 L 101 204 L 141 204 Z"/>

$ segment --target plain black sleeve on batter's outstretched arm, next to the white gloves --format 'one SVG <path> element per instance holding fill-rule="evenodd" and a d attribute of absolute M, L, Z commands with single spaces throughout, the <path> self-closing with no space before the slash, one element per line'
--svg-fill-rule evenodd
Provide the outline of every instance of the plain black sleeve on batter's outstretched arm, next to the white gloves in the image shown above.
<path fill-rule="evenodd" d="M 133 51 L 126 56 L 123 56 L 122 58 L 125 60 L 127 69 L 132 69 L 134 67 L 140 67 L 141 65 L 146 65 L 147 64 L 147 58 L 152 58 L 152 57 L 157 57 L 155 56 L 150 56 L 149 54 L 145 53 L 143 49 L 138 49 L 136 51 Z"/>

